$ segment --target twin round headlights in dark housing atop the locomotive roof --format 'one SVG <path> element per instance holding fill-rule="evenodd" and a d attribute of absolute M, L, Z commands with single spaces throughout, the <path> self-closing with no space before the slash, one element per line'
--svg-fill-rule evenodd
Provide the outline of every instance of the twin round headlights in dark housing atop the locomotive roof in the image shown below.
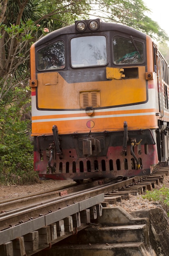
<path fill-rule="evenodd" d="M 75 21 L 75 26 L 79 32 L 96 31 L 100 29 L 100 19 Z"/>

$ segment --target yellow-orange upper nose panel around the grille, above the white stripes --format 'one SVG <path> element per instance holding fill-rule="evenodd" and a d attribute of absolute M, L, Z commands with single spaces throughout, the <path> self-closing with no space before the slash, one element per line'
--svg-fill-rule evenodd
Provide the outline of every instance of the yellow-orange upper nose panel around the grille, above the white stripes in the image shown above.
<path fill-rule="evenodd" d="M 147 100 L 145 67 L 139 67 L 138 79 L 112 79 L 73 84 L 64 81 L 58 73 L 56 76 L 56 73 L 47 73 L 47 76 L 45 73 L 38 74 L 38 108 L 80 109 L 80 92 L 94 89 L 100 90 L 101 107 Z"/>

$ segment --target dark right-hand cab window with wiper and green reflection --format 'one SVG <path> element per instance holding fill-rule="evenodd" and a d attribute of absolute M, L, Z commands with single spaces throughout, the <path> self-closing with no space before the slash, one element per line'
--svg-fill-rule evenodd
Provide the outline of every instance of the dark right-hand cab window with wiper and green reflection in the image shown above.
<path fill-rule="evenodd" d="M 144 45 L 136 40 L 115 36 L 113 38 L 113 63 L 116 65 L 144 62 Z"/>

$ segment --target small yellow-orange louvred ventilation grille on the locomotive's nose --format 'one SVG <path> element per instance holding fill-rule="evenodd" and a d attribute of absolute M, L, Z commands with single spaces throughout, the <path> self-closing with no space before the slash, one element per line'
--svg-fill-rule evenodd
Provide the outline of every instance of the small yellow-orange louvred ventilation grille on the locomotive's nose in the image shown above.
<path fill-rule="evenodd" d="M 100 90 L 80 92 L 80 108 L 100 107 Z"/>

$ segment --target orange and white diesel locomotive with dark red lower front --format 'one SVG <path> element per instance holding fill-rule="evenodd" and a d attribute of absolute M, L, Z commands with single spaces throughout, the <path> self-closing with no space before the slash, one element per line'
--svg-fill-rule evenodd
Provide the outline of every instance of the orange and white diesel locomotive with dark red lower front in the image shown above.
<path fill-rule="evenodd" d="M 40 179 L 150 175 L 169 159 L 169 66 L 125 25 L 79 20 L 31 46 Z"/>

